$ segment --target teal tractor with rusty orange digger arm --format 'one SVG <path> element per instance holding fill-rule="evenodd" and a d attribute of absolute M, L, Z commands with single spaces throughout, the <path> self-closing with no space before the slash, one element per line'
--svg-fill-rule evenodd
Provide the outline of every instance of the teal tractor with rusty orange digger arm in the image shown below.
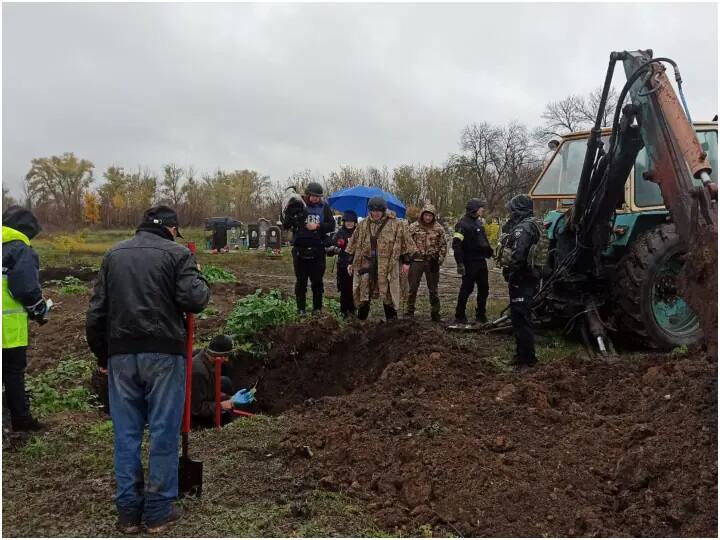
<path fill-rule="evenodd" d="M 618 62 L 627 83 L 612 127 L 602 128 Z M 692 122 L 675 62 L 649 50 L 611 53 L 593 129 L 551 142 L 530 190 L 536 214 L 547 211 L 550 240 L 535 317 L 564 322 L 601 354 L 614 352 L 611 335 L 661 350 L 704 336 L 717 354 L 717 315 L 699 309 L 705 285 L 697 279 L 716 290 L 717 147 L 717 117 Z M 683 289 L 695 249 L 709 256 Z M 717 306 L 712 292 L 705 301 Z"/>

